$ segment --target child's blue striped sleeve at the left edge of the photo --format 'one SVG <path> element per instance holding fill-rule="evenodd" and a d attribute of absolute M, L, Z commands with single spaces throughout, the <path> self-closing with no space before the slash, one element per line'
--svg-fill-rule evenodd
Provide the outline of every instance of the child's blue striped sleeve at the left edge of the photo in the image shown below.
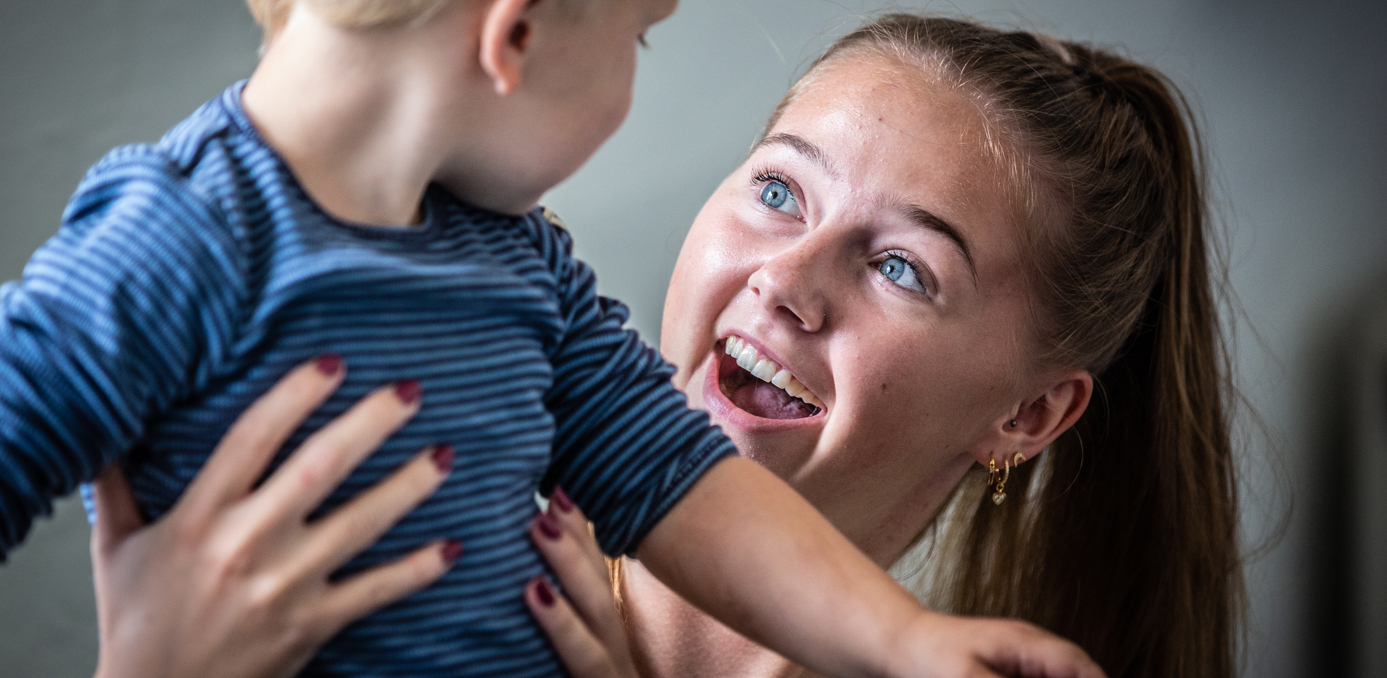
<path fill-rule="evenodd" d="M 237 313 L 223 223 L 153 151 L 87 173 L 0 293 L 0 560 L 205 380 Z"/>

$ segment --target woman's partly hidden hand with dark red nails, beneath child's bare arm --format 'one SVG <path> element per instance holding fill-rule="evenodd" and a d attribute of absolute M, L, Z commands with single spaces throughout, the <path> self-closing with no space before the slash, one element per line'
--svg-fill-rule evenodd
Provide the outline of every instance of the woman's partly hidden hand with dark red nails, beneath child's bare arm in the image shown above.
<path fill-rule="evenodd" d="M 559 577 L 526 586 L 524 600 L 574 678 L 635 678 L 626 625 L 616 609 L 606 559 L 588 519 L 555 488 L 549 512 L 530 525 L 530 538 Z"/>

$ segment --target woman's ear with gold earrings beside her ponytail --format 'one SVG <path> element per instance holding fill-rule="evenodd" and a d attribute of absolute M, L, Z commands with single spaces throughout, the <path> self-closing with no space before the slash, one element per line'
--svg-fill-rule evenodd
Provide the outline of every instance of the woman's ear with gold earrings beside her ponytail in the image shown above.
<path fill-rule="evenodd" d="M 1011 416 L 993 421 L 974 456 L 983 466 L 994 459 L 999 467 L 1018 452 L 1033 459 L 1079 420 L 1092 397 L 1093 376 L 1087 370 L 1061 373 L 1044 391 L 1017 403 Z"/>

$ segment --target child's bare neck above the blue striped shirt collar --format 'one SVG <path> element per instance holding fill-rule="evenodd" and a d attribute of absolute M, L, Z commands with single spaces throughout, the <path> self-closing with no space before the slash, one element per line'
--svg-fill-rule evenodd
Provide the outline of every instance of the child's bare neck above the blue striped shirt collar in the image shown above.
<path fill-rule="evenodd" d="M 426 68 L 393 36 L 350 33 L 295 10 L 243 93 L 259 133 L 340 219 L 406 226 L 447 162 Z"/>

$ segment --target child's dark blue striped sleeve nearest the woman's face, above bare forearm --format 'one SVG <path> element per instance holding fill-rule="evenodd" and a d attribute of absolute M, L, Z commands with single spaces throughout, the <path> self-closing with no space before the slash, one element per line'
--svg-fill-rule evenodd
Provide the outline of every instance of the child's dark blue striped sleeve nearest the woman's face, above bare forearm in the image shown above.
<path fill-rule="evenodd" d="M 556 433 L 542 489 L 562 485 L 592 520 L 602 550 L 630 555 L 736 448 L 707 413 L 688 408 L 670 383 L 674 367 L 623 329 L 626 305 L 596 294 L 567 234 L 551 233 L 567 329 L 552 358 Z"/>

